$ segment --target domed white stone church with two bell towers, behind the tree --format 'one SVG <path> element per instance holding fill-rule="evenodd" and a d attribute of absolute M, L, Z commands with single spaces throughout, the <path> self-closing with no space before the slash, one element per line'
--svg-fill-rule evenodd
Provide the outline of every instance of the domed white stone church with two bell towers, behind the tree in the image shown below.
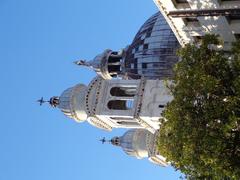
<path fill-rule="evenodd" d="M 166 83 L 171 83 L 179 46 L 158 12 L 125 48 L 106 49 L 93 60 L 74 62 L 94 70 L 97 76 L 88 85 L 76 84 L 48 102 L 76 122 L 86 121 L 107 131 L 129 129 L 109 142 L 128 155 L 167 166 L 157 149 L 157 135 L 162 111 L 172 100 Z"/>

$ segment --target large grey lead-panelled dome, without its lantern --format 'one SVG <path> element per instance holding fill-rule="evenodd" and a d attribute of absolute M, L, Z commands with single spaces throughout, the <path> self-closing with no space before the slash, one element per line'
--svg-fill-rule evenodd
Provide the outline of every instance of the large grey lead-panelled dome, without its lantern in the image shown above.
<path fill-rule="evenodd" d="M 179 43 L 160 12 L 150 17 L 126 49 L 123 71 L 127 77 L 165 79 L 173 76 Z"/>

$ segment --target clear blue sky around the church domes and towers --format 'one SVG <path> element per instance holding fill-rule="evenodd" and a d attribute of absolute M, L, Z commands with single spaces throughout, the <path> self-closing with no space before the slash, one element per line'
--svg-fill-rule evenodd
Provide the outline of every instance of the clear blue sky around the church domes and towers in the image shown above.
<path fill-rule="evenodd" d="M 0 180 L 172 180 L 180 174 L 98 139 L 121 135 L 78 124 L 36 99 L 95 73 L 72 63 L 131 43 L 157 11 L 152 0 L 0 1 Z"/>

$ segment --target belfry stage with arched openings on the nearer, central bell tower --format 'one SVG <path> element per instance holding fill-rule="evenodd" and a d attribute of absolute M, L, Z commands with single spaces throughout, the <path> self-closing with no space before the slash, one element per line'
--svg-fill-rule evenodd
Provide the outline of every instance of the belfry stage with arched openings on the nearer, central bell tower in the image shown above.
<path fill-rule="evenodd" d="M 103 80 L 96 116 L 118 127 L 143 128 L 134 119 L 139 86 L 139 80 Z"/>

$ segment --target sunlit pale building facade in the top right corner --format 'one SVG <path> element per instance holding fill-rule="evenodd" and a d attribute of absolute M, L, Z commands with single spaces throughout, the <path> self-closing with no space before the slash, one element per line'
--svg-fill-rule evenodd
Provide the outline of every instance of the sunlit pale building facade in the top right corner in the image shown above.
<path fill-rule="evenodd" d="M 228 10 L 239 9 L 237 0 L 154 0 L 155 4 L 167 20 L 179 43 L 184 46 L 201 39 L 206 33 L 218 34 L 224 41 L 226 50 L 232 42 L 240 38 L 240 16 L 198 16 L 173 17 L 171 12 L 183 10 Z"/>

